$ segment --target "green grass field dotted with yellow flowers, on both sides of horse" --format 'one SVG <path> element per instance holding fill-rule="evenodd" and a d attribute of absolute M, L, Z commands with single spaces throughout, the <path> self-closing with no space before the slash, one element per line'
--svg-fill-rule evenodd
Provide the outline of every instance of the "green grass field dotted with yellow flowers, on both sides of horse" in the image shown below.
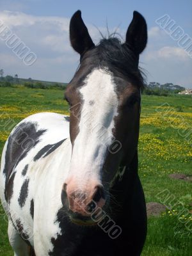
<path fill-rule="evenodd" d="M 0 97 L 0 152 L 12 127 L 26 116 L 40 111 L 68 113 L 60 90 L 0 88 Z M 169 177 L 171 173 L 191 175 L 191 127 L 190 96 L 143 95 L 140 178 L 147 202 L 160 202 L 170 209 L 148 219 L 148 236 L 142 256 L 191 255 L 191 182 Z M 13 255 L 2 208 L 0 221 L 0 255 Z"/>

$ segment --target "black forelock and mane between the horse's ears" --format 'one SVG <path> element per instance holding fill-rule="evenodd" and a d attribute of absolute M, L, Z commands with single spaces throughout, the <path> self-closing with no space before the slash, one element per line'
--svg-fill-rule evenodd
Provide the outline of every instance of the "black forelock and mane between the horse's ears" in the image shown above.
<path fill-rule="evenodd" d="M 122 44 L 118 38 L 103 38 L 97 46 L 81 56 L 76 74 L 84 70 L 83 77 L 85 77 L 93 68 L 101 68 L 117 77 L 127 79 L 142 89 L 145 75 L 138 67 L 138 62 L 139 56 L 136 56 L 130 47 Z"/>

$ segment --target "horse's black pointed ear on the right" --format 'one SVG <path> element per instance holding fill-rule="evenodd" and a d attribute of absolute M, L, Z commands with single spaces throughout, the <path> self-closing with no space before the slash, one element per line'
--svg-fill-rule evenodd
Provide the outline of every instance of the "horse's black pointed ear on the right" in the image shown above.
<path fill-rule="evenodd" d="M 147 45 L 147 23 L 143 16 L 134 11 L 131 24 L 127 29 L 126 42 L 136 54 L 140 54 Z"/>

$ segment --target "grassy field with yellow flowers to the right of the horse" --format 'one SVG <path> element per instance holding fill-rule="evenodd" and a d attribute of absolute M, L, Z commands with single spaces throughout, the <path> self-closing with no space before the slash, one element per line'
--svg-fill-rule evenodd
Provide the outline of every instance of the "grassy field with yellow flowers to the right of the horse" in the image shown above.
<path fill-rule="evenodd" d="M 163 108 L 159 108 L 162 105 Z M 170 213 L 166 212 L 164 216 L 148 219 L 148 234 L 143 256 L 191 255 L 191 233 L 184 225 L 184 221 L 188 221 L 184 218 L 189 218 L 189 215 L 180 217 L 182 209 L 179 206 L 181 201 L 184 209 L 191 211 L 191 196 L 189 195 L 190 202 L 184 199 L 191 192 L 191 183 L 173 180 L 168 176 L 171 173 L 191 174 L 192 154 L 188 140 L 191 140 L 192 134 L 189 138 L 180 136 L 181 131 L 186 131 L 184 134 L 187 134 L 191 127 L 191 97 L 143 95 L 139 162 L 145 198 L 147 202 L 166 201 L 166 205 L 173 205 Z M 170 200 L 166 200 L 166 196 L 161 194 L 157 196 L 164 189 L 168 189 L 166 193 L 169 193 Z M 177 213 L 173 214 L 173 210 Z M 184 223 L 180 223 L 179 217 Z"/>

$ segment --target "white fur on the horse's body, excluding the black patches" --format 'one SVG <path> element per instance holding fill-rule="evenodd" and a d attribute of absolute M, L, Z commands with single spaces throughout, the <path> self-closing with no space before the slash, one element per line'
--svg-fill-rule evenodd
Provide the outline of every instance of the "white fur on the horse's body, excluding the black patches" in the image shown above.
<path fill-rule="evenodd" d="M 0 173 L 1 202 L 3 202 L 5 211 L 7 213 L 9 212 L 12 216 L 13 221 L 19 218 L 24 224 L 24 231 L 28 234 L 31 245 L 35 246 L 36 255 L 43 256 L 47 255 L 49 250 L 52 250 L 51 237 L 56 237 L 60 233 L 60 228 L 54 221 L 56 220 L 56 212 L 62 207 L 61 188 L 68 175 L 70 165 L 70 139 L 65 140 L 49 156 L 39 159 L 36 162 L 33 161 L 33 158 L 45 145 L 57 143 L 68 138 L 69 123 L 63 115 L 56 113 L 38 113 L 29 116 L 22 120 L 22 122 L 34 122 L 38 126 L 38 131 L 40 129 L 47 129 L 47 132 L 41 136 L 40 142 L 29 151 L 27 156 L 13 170 L 16 174 L 13 181 L 13 196 L 9 209 L 4 200 L 5 177 L 3 168 L 7 143 L 4 146 Z M 12 133 L 14 131 L 15 129 L 13 129 Z M 21 172 L 26 164 L 29 164 L 29 168 L 26 176 L 23 177 Z M 30 180 L 28 187 L 29 193 L 26 203 L 21 208 L 18 198 L 20 188 L 26 178 Z M 35 202 L 34 220 L 31 218 L 29 212 L 32 198 Z M 14 235 L 14 239 L 17 239 L 16 235 Z"/>

